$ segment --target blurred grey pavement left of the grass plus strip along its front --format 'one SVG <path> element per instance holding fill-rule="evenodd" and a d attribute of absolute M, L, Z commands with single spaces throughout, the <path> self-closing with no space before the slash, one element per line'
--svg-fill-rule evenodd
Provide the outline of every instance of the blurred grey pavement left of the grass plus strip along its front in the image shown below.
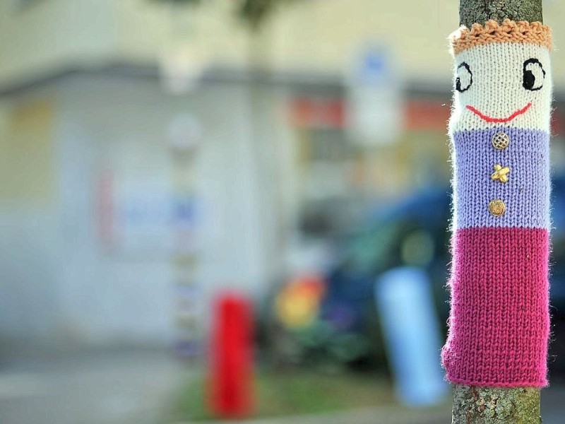
<path fill-rule="evenodd" d="M 168 351 L 88 353 L 0 368 L 1 424 L 164 424 L 177 388 L 196 377 Z M 565 387 L 542 391 L 544 424 L 561 424 Z M 237 424 L 444 424 L 451 406 L 381 406 Z M 203 422 L 200 422 L 203 423 Z M 225 424 L 226 421 L 209 424 Z M 228 422 L 229 423 L 229 422 Z M 193 424 L 189 422 L 171 424 Z"/>

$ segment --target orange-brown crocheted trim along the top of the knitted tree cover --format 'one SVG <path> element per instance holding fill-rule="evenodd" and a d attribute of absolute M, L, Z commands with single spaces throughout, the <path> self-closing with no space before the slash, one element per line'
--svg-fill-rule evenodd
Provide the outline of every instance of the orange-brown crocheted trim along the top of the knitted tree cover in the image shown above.
<path fill-rule="evenodd" d="M 501 24 L 488 20 L 483 25 L 472 24 L 471 29 L 462 26 L 449 36 L 453 54 L 491 42 L 521 42 L 552 48 L 552 32 L 541 22 L 505 19 Z"/>

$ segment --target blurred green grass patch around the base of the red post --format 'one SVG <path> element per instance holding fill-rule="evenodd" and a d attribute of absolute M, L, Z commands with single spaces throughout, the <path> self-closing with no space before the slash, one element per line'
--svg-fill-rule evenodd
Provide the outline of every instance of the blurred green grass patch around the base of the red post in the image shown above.
<path fill-rule="evenodd" d="M 174 421 L 211 420 L 203 380 L 186 384 L 174 408 Z M 323 413 L 391 404 L 390 384 L 374 375 L 323 375 L 313 372 L 263 372 L 256 378 L 254 418 Z"/>

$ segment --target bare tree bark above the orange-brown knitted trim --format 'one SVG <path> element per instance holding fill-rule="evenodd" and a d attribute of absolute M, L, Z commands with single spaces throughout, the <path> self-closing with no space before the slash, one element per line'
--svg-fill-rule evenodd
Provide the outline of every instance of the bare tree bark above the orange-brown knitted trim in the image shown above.
<path fill-rule="evenodd" d="M 543 22 L 542 0 L 460 0 L 459 23 L 471 28 L 475 22 L 494 19 L 528 20 Z"/>

